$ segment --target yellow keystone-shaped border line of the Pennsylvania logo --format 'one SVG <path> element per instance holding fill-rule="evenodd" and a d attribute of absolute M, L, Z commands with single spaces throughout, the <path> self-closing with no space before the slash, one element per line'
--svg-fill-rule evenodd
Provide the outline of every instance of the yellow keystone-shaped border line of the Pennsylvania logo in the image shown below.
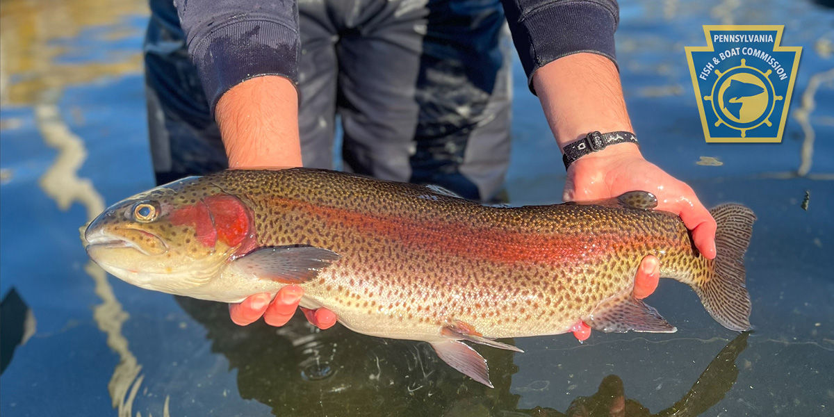
<path fill-rule="evenodd" d="M 698 103 L 698 113 L 701 113 L 701 128 L 704 129 L 704 138 L 708 143 L 781 143 L 782 133 L 785 132 L 785 122 L 787 120 L 787 111 L 791 103 L 791 95 L 793 93 L 793 83 L 796 81 L 796 68 L 799 68 L 799 58 L 802 53 L 802 47 L 782 47 L 781 33 L 785 29 L 785 25 L 704 25 L 704 38 L 706 38 L 706 47 L 684 47 L 686 51 L 686 63 L 689 64 L 689 73 L 692 76 L 692 88 L 695 89 L 696 101 Z M 791 68 L 791 80 L 787 84 L 787 92 L 785 93 L 785 106 L 782 108 L 781 120 L 779 122 L 779 132 L 776 133 L 776 138 L 712 138 L 710 136 L 710 128 L 706 123 L 706 113 L 704 113 L 704 103 L 701 94 L 701 88 L 698 87 L 698 76 L 696 74 L 695 64 L 692 63 L 693 52 L 716 52 L 715 46 L 712 44 L 710 32 L 714 30 L 737 30 L 737 31 L 752 31 L 752 30 L 775 30 L 776 38 L 773 42 L 773 52 L 793 52 L 796 53 L 796 58 L 793 60 L 793 68 Z"/>

